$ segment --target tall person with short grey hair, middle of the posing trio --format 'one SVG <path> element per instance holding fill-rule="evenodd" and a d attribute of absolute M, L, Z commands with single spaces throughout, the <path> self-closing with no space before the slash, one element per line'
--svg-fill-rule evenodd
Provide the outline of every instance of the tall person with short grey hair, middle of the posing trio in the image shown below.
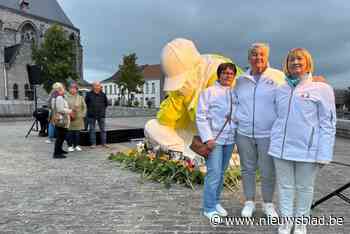
<path fill-rule="evenodd" d="M 268 155 L 270 132 L 276 120 L 274 90 L 284 83 L 281 71 L 269 67 L 269 46 L 253 44 L 248 51 L 250 69 L 237 79 L 238 99 L 237 148 L 240 155 L 245 204 L 241 215 L 251 217 L 255 211 L 255 177 L 261 173 L 262 208 L 267 216 L 278 216 L 272 203 L 275 168 Z"/>

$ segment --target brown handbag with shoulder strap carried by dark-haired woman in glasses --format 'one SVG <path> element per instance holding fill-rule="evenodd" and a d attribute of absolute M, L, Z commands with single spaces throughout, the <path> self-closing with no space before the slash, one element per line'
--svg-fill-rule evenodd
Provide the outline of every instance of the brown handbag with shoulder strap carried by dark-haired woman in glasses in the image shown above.
<path fill-rule="evenodd" d="M 224 123 L 224 125 L 222 126 L 222 128 L 220 129 L 218 135 L 215 137 L 215 141 L 219 138 L 219 136 L 221 135 L 221 133 L 223 132 L 224 128 L 226 127 L 228 121 L 231 120 L 231 115 L 232 115 L 232 95 L 230 93 L 230 113 L 226 118 L 226 121 Z M 204 158 L 208 158 L 210 152 L 212 151 L 212 149 L 210 149 L 208 147 L 207 144 L 203 143 L 202 139 L 200 136 L 193 136 L 192 138 L 192 142 L 190 145 L 190 149 L 195 152 L 196 154 L 199 154 L 200 156 L 204 157 Z"/>

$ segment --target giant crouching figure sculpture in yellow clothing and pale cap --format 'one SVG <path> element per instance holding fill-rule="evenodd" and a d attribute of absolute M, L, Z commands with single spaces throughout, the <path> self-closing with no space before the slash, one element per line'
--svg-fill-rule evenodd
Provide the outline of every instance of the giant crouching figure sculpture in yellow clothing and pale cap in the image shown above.
<path fill-rule="evenodd" d="M 157 119 L 145 125 L 145 137 L 163 151 L 178 151 L 194 158 L 189 149 L 196 134 L 195 113 L 200 92 L 217 80 L 217 67 L 230 59 L 219 55 L 201 55 L 192 41 L 177 38 L 166 44 L 161 53 L 165 73 L 164 91 Z M 237 76 L 242 74 L 238 68 Z"/>

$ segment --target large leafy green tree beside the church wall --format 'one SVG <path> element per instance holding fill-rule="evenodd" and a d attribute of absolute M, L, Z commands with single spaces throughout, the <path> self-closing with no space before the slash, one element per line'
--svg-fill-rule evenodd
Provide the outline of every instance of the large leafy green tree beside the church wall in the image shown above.
<path fill-rule="evenodd" d="M 74 67 L 75 51 L 75 42 L 69 40 L 67 33 L 59 25 L 53 25 L 45 32 L 42 43 L 33 44 L 32 57 L 42 68 L 43 86 L 47 92 L 55 82 L 67 84 L 69 78 L 78 79 Z"/>

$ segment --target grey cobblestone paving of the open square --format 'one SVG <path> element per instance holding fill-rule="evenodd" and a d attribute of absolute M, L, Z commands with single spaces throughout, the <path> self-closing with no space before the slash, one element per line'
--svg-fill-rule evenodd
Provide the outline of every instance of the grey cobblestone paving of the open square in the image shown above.
<path fill-rule="evenodd" d="M 137 126 L 142 119 L 110 120 Z M 0 233 L 276 233 L 276 226 L 212 227 L 200 214 L 202 187 L 169 190 L 145 181 L 139 174 L 107 160 L 110 149 L 84 148 L 53 160 L 53 145 L 33 132 L 24 138 L 31 122 L 0 122 Z M 350 139 L 337 138 L 335 160 L 350 162 Z M 327 165 L 318 175 L 315 199 L 349 182 L 350 170 Z M 346 195 L 350 191 L 346 191 Z M 225 191 L 223 205 L 239 216 L 239 192 Z M 260 206 L 259 206 L 260 208 Z M 312 226 L 309 233 L 350 233 L 350 206 L 332 198 L 314 210 L 314 216 L 344 217 L 341 226 Z M 262 213 L 258 209 L 257 216 Z"/>

